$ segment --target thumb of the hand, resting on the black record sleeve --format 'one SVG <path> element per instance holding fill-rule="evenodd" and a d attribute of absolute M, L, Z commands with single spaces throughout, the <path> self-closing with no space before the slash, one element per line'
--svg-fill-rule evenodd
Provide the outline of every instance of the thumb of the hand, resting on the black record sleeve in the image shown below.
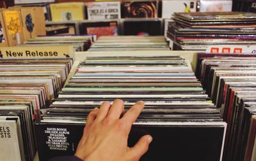
<path fill-rule="evenodd" d="M 148 151 L 148 146 L 152 142 L 153 138 L 150 135 L 146 135 L 140 138 L 140 140 L 130 149 L 129 156 L 132 158 L 141 158 L 141 156 Z"/>

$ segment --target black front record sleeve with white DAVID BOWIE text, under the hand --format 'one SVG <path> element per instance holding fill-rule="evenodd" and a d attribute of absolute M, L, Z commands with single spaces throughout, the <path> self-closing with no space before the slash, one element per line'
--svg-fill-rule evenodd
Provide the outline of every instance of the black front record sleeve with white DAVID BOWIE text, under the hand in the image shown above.
<path fill-rule="evenodd" d="M 180 128 L 180 125 L 182 128 Z M 68 125 L 68 123 L 66 125 L 62 123 L 37 124 L 36 136 L 40 137 L 38 143 L 40 160 L 47 160 L 51 157 L 61 155 L 73 155 L 81 134 L 83 133 L 81 132 L 83 131 L 83 127 L 83 124 Z M 55 134 L 60 135 L 62 145 L 59 144 L 60 146 L 58 146 L 60 139 L 58 141 L 58 139 L 54 138 L 57 136 L 50 136 L 53 134 L 53 131 L 56 132 Z M 211 160 L 221 160 L 220 156 L 222 153 L 223 135 L 225 134 L 225 123 L 135 123 L 129 136 L 129 146 L 133 146 L 134 143 L 145 134 L 152 135 L 154 141 L 141 160 L 180 159 L 180 156 L 183 156 L 182 160 L 186 160 L 187 157 L 196 158 L 198 160 L 205 160 L 205 158 L 208 157 L 210 157 Z M 205 136 L 211 139 L 207 139 Z M 202 143 L 202 138 L 205 138 L 204 144 L 198 144 Z M 216 140 L 212 138 L 216 138 Z M 166 143 L 166 141 L 168 141 L 168 143 Z M 180 144 L 180 141 L 182 144 Z M 169 142 L 173 144 L 170 146 Z M 169 152 L 167 152 L 170 148 L 168 148 L 168 150 L 163 148 L 165 147 L 163 143 L 168 144 L 168 147 L 172 148 L 172 151 L 175 151 L 175 153 L 170 156 Z M 187 147 L 186 153 L 189 155 L 181 155 L 181 151 L 184 150 L 184 144 L 186 144 Z M 156 153 L 156 151 L 159 152 Z M 162 152 L 160 153 L 160 151 Z M 205 155 L 202 155 L 202 151 L 205 151 Z M 49 155 L 43 155 L 45 153 Z M 200 153 L 200 155 L 198 153 Z M 182 152 L 182 154 L 184 154 L 184 152 Z M 198 156 L 200 156 L 200 158 L 198 158 Z"/>

